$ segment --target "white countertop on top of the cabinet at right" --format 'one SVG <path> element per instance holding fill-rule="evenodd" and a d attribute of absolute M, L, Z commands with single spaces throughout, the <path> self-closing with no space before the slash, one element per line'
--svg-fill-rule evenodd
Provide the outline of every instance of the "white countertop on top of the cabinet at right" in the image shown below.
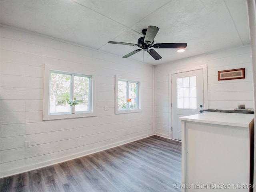
<path fill-rule="evenodd" d="M 238 127 L 248 127 L 253 118 L 254 114 L 224 112 L 204 112 L 201 114 L 180 117 L 181 120 L 185 121 Z"/>

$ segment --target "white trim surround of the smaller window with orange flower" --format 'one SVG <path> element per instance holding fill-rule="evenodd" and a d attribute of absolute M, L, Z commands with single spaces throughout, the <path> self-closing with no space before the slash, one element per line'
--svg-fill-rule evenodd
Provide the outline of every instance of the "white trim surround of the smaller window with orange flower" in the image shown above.
<path fill-rule="evenodd" d="M 138 83 L 138 89 L 137 89 L 138 108 L 118 109 L 118 81 L 119 80 Z M 138 80 L 136 78 L 132 78 L 132 80 L 131 80 L 131 78 L 116 75 L 116 78 L 115 78 L 115 113 L 116 114 L 142 112 L 141 98 L 142 97 L 141 97 L 141 82 L 140 82 L 140 80 Z"/>

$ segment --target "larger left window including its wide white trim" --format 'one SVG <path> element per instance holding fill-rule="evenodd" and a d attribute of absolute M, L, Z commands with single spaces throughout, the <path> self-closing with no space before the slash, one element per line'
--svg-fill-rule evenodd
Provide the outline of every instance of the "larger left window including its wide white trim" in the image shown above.
<path fill-rule="evenodd" d="M 94 116 L 92 76 L 45 68 L 43 120 Z M 70 101 L 78 101 L 75 113 Z M 74 113 L 74 114 L 73 114 Z"/>

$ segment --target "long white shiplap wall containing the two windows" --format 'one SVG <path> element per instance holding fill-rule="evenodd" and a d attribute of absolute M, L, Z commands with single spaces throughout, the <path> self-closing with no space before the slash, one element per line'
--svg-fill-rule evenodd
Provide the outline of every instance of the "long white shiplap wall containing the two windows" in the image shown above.
<path fill-rule="evenodd" d="M 6 26 L 0 38 L 0 177 L 153 134 L 153 66 Z M 46 64 L 95 74 L 96 117 L 42 121 Z M 115 75 L 141 80 L 143 112 L 114 114 Z"/>

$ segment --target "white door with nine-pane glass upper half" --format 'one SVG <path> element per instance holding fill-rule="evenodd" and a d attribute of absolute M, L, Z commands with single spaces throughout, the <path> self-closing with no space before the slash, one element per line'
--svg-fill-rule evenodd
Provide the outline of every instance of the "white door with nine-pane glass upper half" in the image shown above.
<path fill-rule="evenodd" d="M 172 74 L 172 138 L 181 140 L 179 117 L 199 114 L 203 104 L 202 69 Z"/>

